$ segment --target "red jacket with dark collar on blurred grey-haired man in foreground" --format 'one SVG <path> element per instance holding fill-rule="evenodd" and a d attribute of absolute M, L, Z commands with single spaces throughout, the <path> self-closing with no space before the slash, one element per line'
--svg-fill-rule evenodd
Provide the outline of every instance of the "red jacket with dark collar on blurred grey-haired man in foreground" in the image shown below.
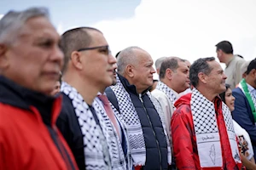
<path fill-rule="evenodd" d="M 61 99 L 53 99 L 49 107 L 52 112 L 44 115 L 36 105 L 29 104 L 32 101 L 29 90 L 3 77 L 0 77 L 0 89 L 0 170 L 78 169 L 55 126 Z M 47 105 L 40 109 L 44 107 Z"/>

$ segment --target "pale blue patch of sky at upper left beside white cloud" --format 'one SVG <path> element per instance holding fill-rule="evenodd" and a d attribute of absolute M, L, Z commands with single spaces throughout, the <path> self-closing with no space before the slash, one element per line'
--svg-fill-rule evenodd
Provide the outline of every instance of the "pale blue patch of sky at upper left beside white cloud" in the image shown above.
<path fill-rule="evenodd" d="M 55 26 L 88 26 L 100 20 L 131 17 L 139 3 L 140 0 L 2 0 L 0 14 L 43 6 L 49 8 Z"/>

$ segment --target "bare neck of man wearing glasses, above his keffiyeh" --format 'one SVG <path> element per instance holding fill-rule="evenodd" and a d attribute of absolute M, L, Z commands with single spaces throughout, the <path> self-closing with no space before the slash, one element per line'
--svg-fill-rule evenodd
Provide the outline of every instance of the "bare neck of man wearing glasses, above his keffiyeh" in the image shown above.
<path fill-rule="evenodd" d="M 88 79 L 79 77 L 79 72 L 76 74 L 68 74 L 68 72 L 63 77 L 64 82 L 70 84 L 73 88 L 82 95 L 84 101 L 88 105 L 92 105 L 93 100 L 96 98 L 99 88 Z"/>

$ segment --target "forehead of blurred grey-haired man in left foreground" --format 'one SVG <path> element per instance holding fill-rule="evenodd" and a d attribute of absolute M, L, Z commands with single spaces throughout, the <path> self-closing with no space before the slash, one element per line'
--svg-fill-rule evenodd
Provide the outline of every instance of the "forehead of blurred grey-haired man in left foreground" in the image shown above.
<path fill-rule="evenodd" d="M 43 16 L 33 17 L 26 20 L 20 30 L 20 37 L 51 37 L 59 40 L 60 36 L 55 27 Z"/>

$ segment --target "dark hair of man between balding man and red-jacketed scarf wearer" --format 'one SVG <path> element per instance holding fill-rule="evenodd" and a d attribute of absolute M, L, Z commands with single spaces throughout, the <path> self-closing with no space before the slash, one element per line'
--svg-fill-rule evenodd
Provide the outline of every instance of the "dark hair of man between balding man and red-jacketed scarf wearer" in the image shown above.
<path fill-rule="evenodd" d="M 160 66 L 160 73 L 159 73 L 160 79 L 166 77 L 166 69 L 171 69 L 172 71 L 176 71 L 178 67 L 177 63 L 179 61 L 185 62 L 184 59 L 180 59 L 178 57 L 168 57 L 164 59 Z"/>

